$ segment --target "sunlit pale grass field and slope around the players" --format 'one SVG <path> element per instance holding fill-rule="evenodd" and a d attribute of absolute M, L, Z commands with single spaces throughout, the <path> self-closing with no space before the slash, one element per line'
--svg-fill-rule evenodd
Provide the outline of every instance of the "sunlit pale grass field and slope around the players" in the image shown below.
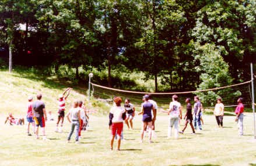
<path fill-rule="evenodd" d="M 62 82 L 61 82 L 62 83 Z M 167 139 L 168 117 L 160 113 L 156 122 L 155 143 L 139 143 L 141 117 L 135 117 L 134 131 L 124 128 L 122 151 L 110 151 L 109 107 L 99 103 L 99 113 L 90 117 L 91 129 L 82 132 L 81 144 L 66 143 L 70 124 L 64 132 L 55 133 L 55 121 L 46 122 L 47 138 L 36 140 L 26 135 L 26 126 L 4 125 L 5 117 L 25 117 L 27 96 L 43 93 L 47 111 L 56 114 L 57 96 L 66 85 L 31 73 L 0 71 L 0 165 L 256 165 L 256 140 L 253 139 L 253 114 L 244 117 L 244 136 L 237 135 L 232 113 L 224 117 L 224 128 L 216 128 L 215 117 L 205 114 L 203 131 L 191 135 L 188 126 L 178 139 Z M 86 89 L 74 88 L 68 109 L 74 99 L 85 99 Z M 56 119 L 56 118 L 55 118 Z M 181 121 L 180 129 L 183 128 Z M 41 132 L 40 132 L 41 133 Z M 148 137 L 146 137 L 148 139 Z M 117 142 L 114 142 L 116 147 Z"/>

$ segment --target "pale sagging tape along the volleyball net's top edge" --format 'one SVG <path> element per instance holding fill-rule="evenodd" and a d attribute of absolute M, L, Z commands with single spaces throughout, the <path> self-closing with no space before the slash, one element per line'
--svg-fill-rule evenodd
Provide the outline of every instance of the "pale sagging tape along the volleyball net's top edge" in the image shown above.
<path fill-rule="evenodd" d="M 125 91 L 125 90 L 121 90 L 121 89 L 108 88 L 107 86 L 101 86 L 101 85 L 97 85 L 97 84 L 93 84 L 93 83 L 91 83 L 91 84 L 92 84 L 93 86 L 97 86 L 97 87 L 100 87 L 100 88 L 109 89 L 109 90 L 113 90 L 113 91 L 117 91 L 117 92 L 127 92 L 127 93 L 136 93 L 136 94 L 152 94 L 152 95 L 174 95 L 174 94 L 187 94 L 187 93 L 197 93 L 197 92 L 214 91 L 214 90 L 218 90 L 218 89 L 224 89 L 224 88 L 230 88 L 230 87 L 233 87 L 233 86 L 244 85 L 244 84 L 248 84 L 248 83 L 250 83 L 250 82 L 251 82 L 251 80 L 250 80 L 250 81 L 246 81 L 246 82 L 242 82 L 242 83 L 240 83 L 240 84 L 227 85 L 227 86 L 222 86 L 222 87 L 212 88 L 212 89 L 202 89 L 202 90 L 198 90 L 198 91 L 164 92 L 164 93 Z"/>

